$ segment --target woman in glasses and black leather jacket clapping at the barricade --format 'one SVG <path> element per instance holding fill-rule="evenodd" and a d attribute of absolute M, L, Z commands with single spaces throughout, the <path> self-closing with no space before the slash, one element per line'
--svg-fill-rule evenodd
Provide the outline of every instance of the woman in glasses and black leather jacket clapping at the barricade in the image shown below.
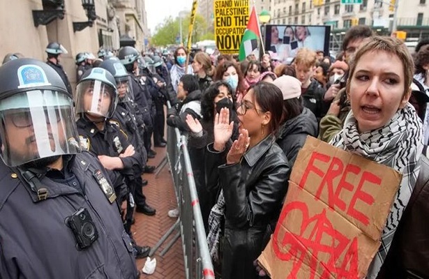
<path fill-rule="evenodd" d="M 222 263 L 223 279 L 257 278 L 253 261 L 266 244 L 264 236 L 272 233 L 270 223 L 278 219 L 290 172 L 274 136 L 282 110 L 283 95 L 277 86 L 267 82 L 251 86 L 237 109 L 239 139 L 229 150 L 225 146 L 234 123 L 229 123 L 229 110 L 216 114 L 206 174 L 211 178 L 216 175 L 209 172 L 217 174 L 222 192 L 211 210 L 208 241 L 213 259 Z M 223 251 L 221 258 L 218 249 Z"/>

